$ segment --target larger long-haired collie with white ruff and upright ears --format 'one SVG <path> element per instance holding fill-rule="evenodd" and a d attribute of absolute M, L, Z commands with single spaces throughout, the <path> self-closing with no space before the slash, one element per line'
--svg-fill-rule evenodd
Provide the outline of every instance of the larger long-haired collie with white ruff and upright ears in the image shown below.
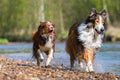
<path fill-rule="evenodd" d="M 75 23 L 69 30 L 66 41 L 66 51 L 70 55 L 71 69 L 74 61 L 78 59 L 80 68 L 82 61 L 86 63 L 86 71 L 92 72 L 94 55 L 101 47 L 104 37 L 106 11 L 97 12 L 92 9 L 83 23 Z"/>

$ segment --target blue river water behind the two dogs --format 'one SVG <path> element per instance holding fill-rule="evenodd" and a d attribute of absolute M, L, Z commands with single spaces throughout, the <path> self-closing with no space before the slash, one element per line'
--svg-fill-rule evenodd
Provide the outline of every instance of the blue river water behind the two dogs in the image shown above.
<path fill-rule="evenodd" d="M 31 60 L 32 43 L 0 44 L 0 54 L 13 59 Z M 52 64 L 64 64 L 69 67 L 69 55 L 65 52 L 65 43 L 56 44 Z M 77 67 L 77 62 L 75 66 Z M 120 74 L 120 44 L 104 43 L 100 52 L 96 54 L 94 68 L 97 72 Z"/>

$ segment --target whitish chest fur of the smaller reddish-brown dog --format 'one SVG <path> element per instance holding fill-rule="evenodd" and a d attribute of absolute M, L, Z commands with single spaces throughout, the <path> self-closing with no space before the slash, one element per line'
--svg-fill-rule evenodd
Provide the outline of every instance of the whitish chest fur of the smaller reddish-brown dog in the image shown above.
<path fill-rule="evenodd" d="M 52 39 L 49 37 L 45 45 L 44 46 L 39 45 L 39 48 L 40 48 L 40 51 L 47 51 L 50 48 L 52 48 L 52 46 L 53 46 Z"/>

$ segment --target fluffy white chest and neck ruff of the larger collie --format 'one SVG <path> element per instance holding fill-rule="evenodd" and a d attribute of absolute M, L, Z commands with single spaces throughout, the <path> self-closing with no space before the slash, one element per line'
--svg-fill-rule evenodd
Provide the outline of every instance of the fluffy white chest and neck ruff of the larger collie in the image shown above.
<path fill-rule="evenodd" d="M 79 27 L 78 27 L 78 39 L 79 41 L 82 41 L 83 43 L 83 46 L 85 48 L 100 48 L 101 47 L 101 44 L 102 44 L 102 38 L 103 38 L 103 35 L 101 34 L 97 34 L 95 35 L 95 31 L 93 28 L 87 28 L 87 25 L 86 24 L 81 24 Z M 94 39 L 94 37 L 96 37 Z"/>

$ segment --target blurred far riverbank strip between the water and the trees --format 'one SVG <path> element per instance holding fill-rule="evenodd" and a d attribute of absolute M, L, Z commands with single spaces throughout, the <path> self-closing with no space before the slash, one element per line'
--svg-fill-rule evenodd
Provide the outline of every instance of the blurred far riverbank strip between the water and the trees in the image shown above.
<path fill-rule="evenodd" d="M 56 38 L 56 42 L 65 42 L 66 38 L 58 39 Z M 9 40 L 7 38 L 0 38 L 0 44 L 7 44 L 7 43 L 31 43 L 32 38 L 30 39 L 12 39 Z M 114 28 L 113 26 L 108 26 L 107 30 L 105 31 L 104 42 L 120 42 L 120 28 Z"/>

